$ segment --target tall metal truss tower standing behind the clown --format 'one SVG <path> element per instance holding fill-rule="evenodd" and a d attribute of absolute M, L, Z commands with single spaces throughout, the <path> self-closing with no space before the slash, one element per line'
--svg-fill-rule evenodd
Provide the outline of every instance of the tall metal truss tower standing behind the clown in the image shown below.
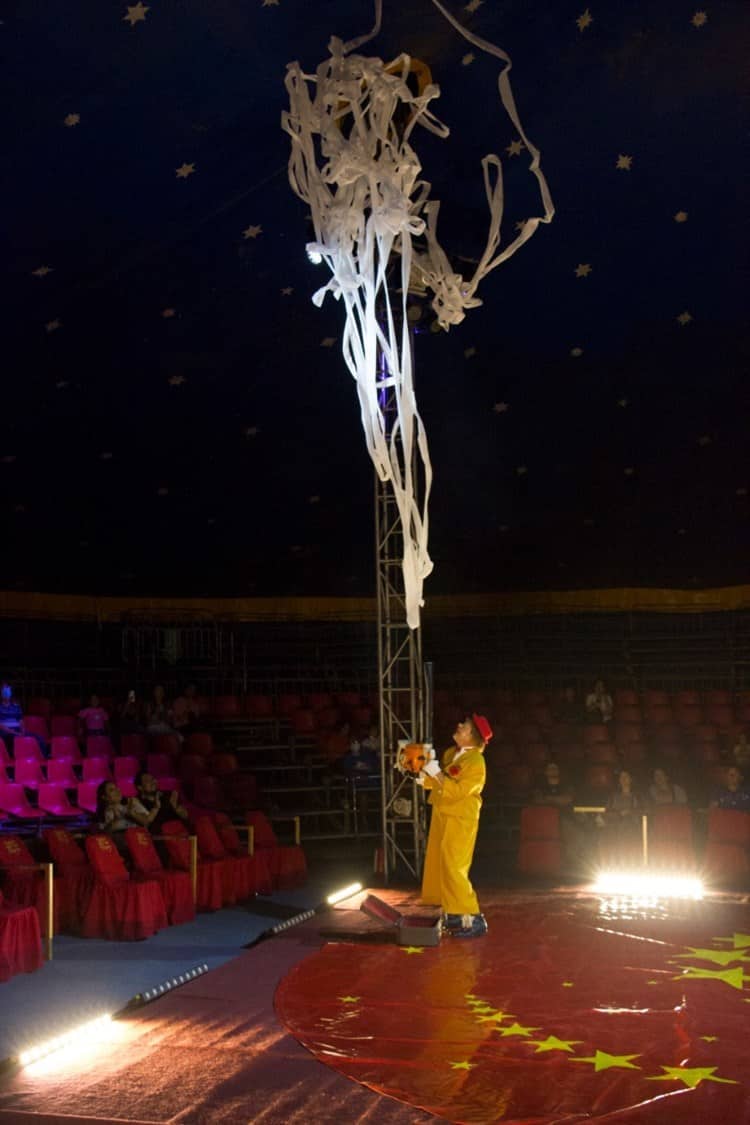
<path fill-rule="evenodd" d="M 383 386 L 380 402 L 386 435 L 391 440 L 397 420 L 396 395 L 388 386 L 381 357 Z M 396 441 L 399 441 L 396 431 Z M 416 479 L 416 477 L 415 477 Z M 425 669 L 422 630 L 406 623 L 404 588 L 404 531 L 394 490 L 376 474 L 376 564 L 378 584 L 378 676 L 380 688 L 380 760 L 382 803 L 382 875 L 422 876 L 426 837 L 424 790 L 396 768 L 398 742 L 423 741 L 426 731 Z"/>

